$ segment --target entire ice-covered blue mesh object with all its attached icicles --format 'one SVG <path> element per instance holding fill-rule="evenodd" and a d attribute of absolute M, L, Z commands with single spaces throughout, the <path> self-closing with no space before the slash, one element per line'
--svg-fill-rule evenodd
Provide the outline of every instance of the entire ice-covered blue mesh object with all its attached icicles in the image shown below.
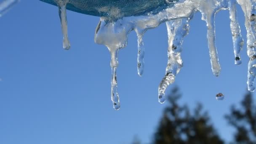
<path fill-rule="evenodd" d="M 134 30 L 138 37 L 138 74 L 144 69 L 143 35 L 147 29 L 153 29 L 166 22 L 168 31 L 168 64 L 165 76 L 158 88 L 158 100 L 165 102 L 165 89 L 172 84 L 182 64 L 181 51 L 183 38 L 189 32 L 189 20 L 194 13 L 202 13 L 202 20 L 207 24 L 208 48 L 211 69 L 219 76 L 221 67 L 215 45 L 215 15 L 221 10 L 229 10 L 235 64 L 241 64 L 240 51 L 243 38 L 237 22 L 237 5 L 245 14 L 247 30 L 248 90 L 254 91 L 256 77 L 256 0 L 42 0 L 57 5 L 64 34 L 63 46 L 69 48 L 67 37 L 67 9 L 79 13 L 101 16 L 95 31 L 95 42 L 105 45 L 111 54 L 111 99 L 115 109 L 120 108 L 117 93 L 118 51 L 127 45 L 128 34 Z"/>

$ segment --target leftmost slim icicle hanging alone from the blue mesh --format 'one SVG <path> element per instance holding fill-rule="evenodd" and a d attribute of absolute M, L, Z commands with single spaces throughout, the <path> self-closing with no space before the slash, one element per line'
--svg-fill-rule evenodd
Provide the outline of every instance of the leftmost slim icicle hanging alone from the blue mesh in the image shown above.
<path fill-rule="evenodd" d="M 69 0 L 55 0 L 55 3 L 59 7 L 59 18 L 61 20 L 61 29 L 63 34 L 63 48 L 68 50 L 70 48 L 69 38 L 67 35 L 67 12 L 66 5 Z"/>

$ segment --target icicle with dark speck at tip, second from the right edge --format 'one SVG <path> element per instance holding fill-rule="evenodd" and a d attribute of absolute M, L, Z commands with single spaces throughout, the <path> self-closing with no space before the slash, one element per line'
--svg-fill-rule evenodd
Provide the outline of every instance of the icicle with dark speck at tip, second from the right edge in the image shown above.
<path fill-rule="evenodd" d="M 235 0 L 229 1 L 230 29 L 232 33 L 232 40 L 234 46 L 235 64 L 238 65 L 242 63 L 240 58 L 240 51 L 243 48 L 244 41 L 241 35 L 239 23 L 237 21 L 237 10 L 235 4 Z"/>

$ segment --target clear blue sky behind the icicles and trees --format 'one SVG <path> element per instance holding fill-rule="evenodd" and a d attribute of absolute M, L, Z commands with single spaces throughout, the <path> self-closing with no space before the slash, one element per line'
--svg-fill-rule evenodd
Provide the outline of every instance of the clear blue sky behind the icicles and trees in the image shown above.
<path fill-rule="evenodd" d="M 245 38 L 244 16 L 239 21 Z M 117 70 L 121 109 L 110 99 L 110 55 L 94 43 L 99 17 L 67 11 L 71 49 L 62 48 L 58 8 L 39 0 L 23 0 L 0 19 L 0 144 L 129 144 L 138 135 L 152 139 L 165 104 L 157 88 L 167 64 L 165 24 L 144 36 L 144 75 L 137 75 L 137 40 L 131 32 L 119 53 Z M 215 77 L 206 40 L 206 25 L 197 13 L 184 40 L 184 67 L 173 85 L 181 104 L 208 110 L 221 137 L 232 139 L 224 120 L 231 104 L 246 92 L 248 56 L 234 64 L 228 11 L 216 16 L 216 45 L 221 74 Z M 216 93 L 223 101 L 216 101 Z M 230 132 L 231 131 L 231 132 Z"/>

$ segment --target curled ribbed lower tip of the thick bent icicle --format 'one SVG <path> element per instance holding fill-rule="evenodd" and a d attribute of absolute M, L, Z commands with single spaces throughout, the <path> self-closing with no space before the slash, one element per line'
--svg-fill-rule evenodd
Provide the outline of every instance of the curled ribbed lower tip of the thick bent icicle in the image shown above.
<path fill-rule="evenodd" d="M 163 77 L 163 80 L 160 82 L 160 85 L 158 87 L 158 101 L 163 104 L 165 102 L 165 90 L 168 87 L 168 85 L 174 83 L 175 81 L 175 75 L 169 73 L 166 74 L 165 77 Z"/>

